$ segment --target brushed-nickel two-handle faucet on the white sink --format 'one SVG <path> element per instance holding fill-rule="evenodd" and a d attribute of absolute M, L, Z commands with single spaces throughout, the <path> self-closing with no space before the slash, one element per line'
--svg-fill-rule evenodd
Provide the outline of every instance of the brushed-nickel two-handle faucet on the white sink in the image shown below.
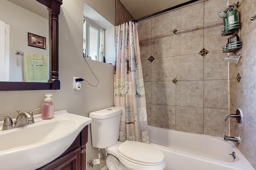
<path fill-rule="evenodd" d="M 17 110 L 18 112 L 18 116 L 16 117 L 16 120 L 14 123 L 12 123 L 12 118 L 9 117 L 8 115 L 0 115 L 0 117 L 4 117 L 4 123 L 3 123 L 3 127 L 2 130 L 9 130 L 9 129 L 13 129 L 13 128 L 17 128 L 17 127 L 22 127 L 22 126 L 26 126 L 26 125 L 31 125 L 34 122 L 34 117 L 33 117 L 33 112 L 36 110 L 40 110 L 41 108 L 37 108 L 34 109 L 32 111 L 30 111 L 29 113 L 24 111 L 19 113 L 19 110 Z"/>

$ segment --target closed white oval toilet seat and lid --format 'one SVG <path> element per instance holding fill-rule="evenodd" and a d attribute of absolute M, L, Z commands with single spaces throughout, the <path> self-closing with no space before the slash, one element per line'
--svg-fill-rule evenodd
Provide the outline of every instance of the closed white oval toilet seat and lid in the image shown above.
<path fill-rule="evenodd" d="M 160 165 L 164 162 L 164 154 L 147 143 L 125 141 L 118 146 L 118 154 L 122 158 L 140 165 Z"/>

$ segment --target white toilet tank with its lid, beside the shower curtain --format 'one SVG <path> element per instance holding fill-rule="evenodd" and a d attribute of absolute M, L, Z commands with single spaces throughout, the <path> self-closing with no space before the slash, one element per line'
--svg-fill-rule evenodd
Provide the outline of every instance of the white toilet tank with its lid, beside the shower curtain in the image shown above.
<path fill-rule="evenodd" d="M 103 149 L 118 141 L 121 113 L 122 109 L 109 107 L 89 114 L 93 147 Z"/>

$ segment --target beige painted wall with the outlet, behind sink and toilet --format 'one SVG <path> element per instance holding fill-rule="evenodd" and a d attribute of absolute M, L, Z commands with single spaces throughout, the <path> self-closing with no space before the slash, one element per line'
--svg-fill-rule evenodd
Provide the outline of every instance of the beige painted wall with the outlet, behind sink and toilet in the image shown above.
<path fill-rule="evenodd" d="M 113 9 L 115 9 L 115 1 Z M 92 85 L 97 84 L 96 78 L 82 57 L 82 48 L 83 1 L 64 0 L 59 16 L 60 90 L 2 91 L 0 92 L 1 114 L 10 115 L 14 118 L 16 117 L 17 109 L 30 111 L 41 107 L 41 104 L 44 102 L 44 94 L 53 94 L 55 110 L 66 109 L 69 113 L 86 117 L 89 116 L 91 111 L 114 106 L 114 66 L 110 64 L 87 60 L 95 76 L 98 78 L 99 84 L 95 88 L 88 85 L 86 81 L 83 81 L 80 91 L 73 89 L 73 76 L 84 78 Z M 97 149 L 92 147 L 89 127 L 86 162 L 96 158 L 98 158 L 98 152 Z M 104 165 L 105 163 L 102 161 L 94 169 L 100 170 Z M 86 169 L 90 170 L 92 168 Z"/>

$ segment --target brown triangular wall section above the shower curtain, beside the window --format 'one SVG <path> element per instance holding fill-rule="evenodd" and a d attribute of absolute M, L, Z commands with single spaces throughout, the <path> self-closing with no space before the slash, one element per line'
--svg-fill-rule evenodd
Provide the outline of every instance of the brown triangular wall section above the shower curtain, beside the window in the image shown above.
<path fill-rule="evenodd" d="M 124 8 L 123 4 L 119 0 L 116 0 L 116 25 L 120 25 L 132 20 L 134 20 L 134 18 Z"/>

